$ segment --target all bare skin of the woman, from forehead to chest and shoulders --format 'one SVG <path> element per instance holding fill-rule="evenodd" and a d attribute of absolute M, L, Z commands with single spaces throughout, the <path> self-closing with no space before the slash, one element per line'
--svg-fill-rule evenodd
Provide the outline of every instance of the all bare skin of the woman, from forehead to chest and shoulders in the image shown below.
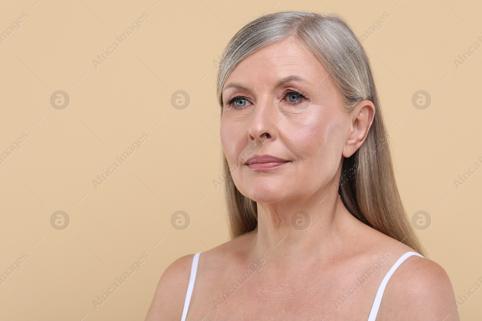
<path fill-rule="evenodd" d="M 280 84 L 290 76 L 306 81 Z M 238 64 L 223 100 L 236 96 L 242 98 L 223 107 L 221 140 L 236 186 L 257 202 L 258 229 L 201 253 L 187 320 L 367 320 L 389 268 L 414 251 L 354 218 L 337 192 L 343 158 L 365 140 L 373 103 L 346 112 L 323 66 L 291 38 Z M 252 171 L 243 165 L 251 154 L 289 162 Z M 299 210 L 311 219 L 306 230 L 292 225 Z M 146 320 L 180 320 L 192 257 L 164 271 Z M 369 276 L 363 283 L 362 275 Z M 345 291 L 351 295 L 343 300 Z M 445 270 L 407 258 L 390 278 L 376 320 L 459 320 Z"/>

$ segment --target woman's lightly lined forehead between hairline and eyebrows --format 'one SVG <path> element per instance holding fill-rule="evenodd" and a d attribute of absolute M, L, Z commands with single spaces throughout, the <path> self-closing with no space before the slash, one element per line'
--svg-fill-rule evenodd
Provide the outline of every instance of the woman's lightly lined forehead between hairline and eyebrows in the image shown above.
<path fill-rule="evenodd" d="M 295 39 L 287 38 L 244 58 L 226 79 L 223 91 L 232 83 L 246 87 L 259 84 L 275 87 L 280 80 L 293 75 L 305 79 L 308 84 L 317 85 L 327 73 L 311 51 Z"/>

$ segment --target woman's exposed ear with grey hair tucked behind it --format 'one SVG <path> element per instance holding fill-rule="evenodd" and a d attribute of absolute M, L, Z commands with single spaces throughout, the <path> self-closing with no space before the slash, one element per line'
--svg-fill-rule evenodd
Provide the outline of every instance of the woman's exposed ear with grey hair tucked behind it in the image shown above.
<path fill-rule="evenodd" d="M 368 134 L 375 117 L 375 105 L 369 100 L 358 103 L 349 113 L 348 121 L 351 123 L 347 141 L 343 147 L 343 156 L 350 157 L 355 153 Z"/>

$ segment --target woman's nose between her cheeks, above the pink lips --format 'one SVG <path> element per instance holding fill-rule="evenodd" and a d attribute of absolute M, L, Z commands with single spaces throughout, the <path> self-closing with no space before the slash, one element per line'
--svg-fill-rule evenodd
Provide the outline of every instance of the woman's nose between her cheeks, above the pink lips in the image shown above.
<path fill-rule="evenodd" d="M 248 128 L 248 139 L 260 143 L 266 140 L 274 141 L 278 137 L 278 112 L 277 107 L 269 97 L 258 100 Z"/>

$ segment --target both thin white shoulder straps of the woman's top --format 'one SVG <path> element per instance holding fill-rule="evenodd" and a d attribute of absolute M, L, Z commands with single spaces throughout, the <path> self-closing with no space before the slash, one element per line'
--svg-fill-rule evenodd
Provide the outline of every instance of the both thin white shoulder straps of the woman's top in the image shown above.
<path fill-rule="evenodd" d="M 189 309 L 189 303 L 191 301 L 192 289 L 194 288 L 194 281 L 196 280 L 196 272 L 198 270 L 198 262 L 199 262 L 200 254 L 201 252 L 196 253 L 192 258 L 191 276 L 189 277 L 189 284 L 187 285 L 187 294 L 186 294 L 186 299 L 184 300 L 184 309 L 182 311 L 181 321 L 186 321 L 187 310 Z M 375 301 L 373 302 L 372 310 L 370 311 L 370 316 L 368 317 L 368 321 L 375 321 L 376 315 L 378 314 L 378 308 L 380 308 L 380 302 L 382 301 L 383 292 L 385 291 L 385 287 L 387 286 L 388 280 L 392 276 L 393 272 L 397 270 L 400 264 L 402 264 L 402 262 L 407 257 L 411 257 L 412 255 L 423 257 L 420 254 L 415 252 L 407 252 L 404 255 L 402 255 L 397 260 L 397 262 L 395 262 L 395 264 L 390 268 L 390 270 L 388 270 L 380 286 L 378 287 L 378 291 L 376 292 Z"/>

